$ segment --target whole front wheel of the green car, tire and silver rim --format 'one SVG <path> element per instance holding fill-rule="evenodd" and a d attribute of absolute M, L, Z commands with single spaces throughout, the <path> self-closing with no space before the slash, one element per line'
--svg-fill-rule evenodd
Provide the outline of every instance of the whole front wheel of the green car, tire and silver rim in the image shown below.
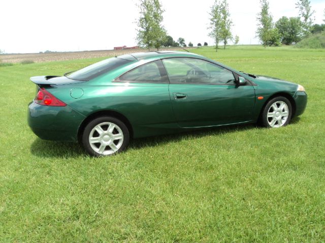
<path fill-rule="evenodd" d="M 289 124 L 292 115 L 290 101 L 278 96 L 268 101 L 261 114 L 261 124 L 266 128 L 280 128 Z"/>

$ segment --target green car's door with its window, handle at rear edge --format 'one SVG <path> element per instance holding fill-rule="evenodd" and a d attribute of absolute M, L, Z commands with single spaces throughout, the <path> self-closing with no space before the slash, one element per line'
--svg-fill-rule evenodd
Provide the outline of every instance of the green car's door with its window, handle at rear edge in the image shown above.
<path fill-rule="evenodd" d="M 180 127 L 236 124 L 251 119 L 254 88 L 249 83 L 236 85 L 232 71 L 196 58 L 167 58 L 163 63 Z"/>

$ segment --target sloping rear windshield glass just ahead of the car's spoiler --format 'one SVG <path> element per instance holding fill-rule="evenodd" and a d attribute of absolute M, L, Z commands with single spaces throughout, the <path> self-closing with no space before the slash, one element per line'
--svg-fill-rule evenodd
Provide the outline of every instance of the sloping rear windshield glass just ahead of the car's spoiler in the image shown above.
<path fill-rule="evenodd" d="M 89 81 L 95 77 L 98 77 L 106 72 L 109 72 L 123 64 L 131 62 L 129 60 L 121 59 L 118 57 L 109 58 L 101 62 L 96 62 L 92 65 L 84 67 L 78 71 L 74 71 L 69 75 L 64 75 L 71 79 Z M 68 74 L 68 73 L 67 73 Z"/>

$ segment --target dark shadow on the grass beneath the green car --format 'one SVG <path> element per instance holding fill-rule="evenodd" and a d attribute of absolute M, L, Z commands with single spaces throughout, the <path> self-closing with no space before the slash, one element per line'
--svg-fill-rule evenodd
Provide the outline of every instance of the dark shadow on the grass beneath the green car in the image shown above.
<path fill-rule="evenodd" d="M 128 148 L 141 149 L 143 147 L 154 147 L 170 142 L 178 142 L 188 138 L 201 138 L 204 136 L 218 136 L 224 133 L 233 133 L 236 131 L 250 130 L 256 128 L 255 125 L 237 125 L 228 127 L 216 127 L 191 130 L 170 135 L 160 135 L 147 138 L 132 139 Z M 127 151 L 127 150 L 126 150 Z M 55 158 L 77 158 L 89 156 L 82 145 L 79 143 L 47 141 L 40 138 L 35 139 L 31 144 L 30 152 L 38 157 L 55 157 Z"/>

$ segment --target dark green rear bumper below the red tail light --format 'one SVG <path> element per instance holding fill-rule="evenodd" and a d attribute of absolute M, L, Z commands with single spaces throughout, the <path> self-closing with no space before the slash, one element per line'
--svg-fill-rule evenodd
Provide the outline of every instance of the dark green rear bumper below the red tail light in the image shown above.
<path fill-rule="evenodd" d="M 85 116 L 69 106 L 28 105 L 28 125 L 41 139 L 78 141 L 78 129 Z"/>

